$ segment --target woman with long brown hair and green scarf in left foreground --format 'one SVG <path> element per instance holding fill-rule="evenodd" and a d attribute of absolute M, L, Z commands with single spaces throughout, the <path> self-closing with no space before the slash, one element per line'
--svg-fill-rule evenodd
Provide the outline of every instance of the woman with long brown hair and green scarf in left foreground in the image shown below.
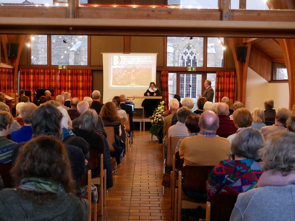
<path fill-rule="evenodd" d="M 17 189 L 0 192 L 1 220 L 89 219 L 78 197 L 64 145 L 41 136 L 19 150 L 11 171 Z"/>

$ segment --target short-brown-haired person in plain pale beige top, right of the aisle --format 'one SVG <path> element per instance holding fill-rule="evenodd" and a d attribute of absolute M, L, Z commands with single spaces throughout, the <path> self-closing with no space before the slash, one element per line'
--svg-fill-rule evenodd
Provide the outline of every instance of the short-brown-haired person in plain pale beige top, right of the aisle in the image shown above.
<path fill-rule="evenodd" d="M 183 103 L 185 100 L 183 99 Z M 176 112 L 177 114 L 177 123 L 168 129 L 169 137 L 187 137 L 189 132 L 185 126 L 185 120 L 188 116 L 191 115 L 191 110 L 187 107 L 179 108 Z M 167 139 L 167 138 L 166 138 Z"/>

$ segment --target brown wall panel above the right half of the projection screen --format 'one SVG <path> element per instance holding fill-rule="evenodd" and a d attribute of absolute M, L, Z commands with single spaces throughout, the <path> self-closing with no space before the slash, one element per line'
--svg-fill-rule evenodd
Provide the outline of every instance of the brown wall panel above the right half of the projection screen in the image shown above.
<path fill-rule="evenodd" d="M 163 67 L 164 37 L 131 36 L 130 53 L 158 53 L 157 67 Z"/>

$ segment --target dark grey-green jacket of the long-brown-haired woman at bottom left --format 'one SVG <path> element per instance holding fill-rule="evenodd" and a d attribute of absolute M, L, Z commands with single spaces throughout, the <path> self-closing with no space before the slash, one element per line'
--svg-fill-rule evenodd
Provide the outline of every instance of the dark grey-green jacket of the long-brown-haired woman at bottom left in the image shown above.
<path fill-rule="evenodd" d="M 0 192 L 0 220 L 2 221 L 85 221 L 82 204 L 71 193 L 57 194 L 42 204 L 25 199 L 15 189 Z"/>

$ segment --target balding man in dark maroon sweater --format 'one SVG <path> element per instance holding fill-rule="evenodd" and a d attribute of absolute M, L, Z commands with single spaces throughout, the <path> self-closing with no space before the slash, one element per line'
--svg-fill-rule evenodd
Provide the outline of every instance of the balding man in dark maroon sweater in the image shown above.
<path fill-rule="evenodd" d="M 216 131 L 218 136 L 227 138 L 237 132 L 234 121 L 228 119 L 230 112 L 226 103 L 219 103 L 215 109 L 215 113 L 219 118 L 219 128 Z"/>

